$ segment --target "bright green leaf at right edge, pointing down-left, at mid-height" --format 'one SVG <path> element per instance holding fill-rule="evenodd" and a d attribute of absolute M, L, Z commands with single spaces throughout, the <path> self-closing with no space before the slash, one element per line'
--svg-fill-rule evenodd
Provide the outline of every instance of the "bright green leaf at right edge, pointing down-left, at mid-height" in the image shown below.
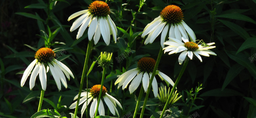
<path fill-rule="evenodd" d="M 236 54 L 247 48 L 256 48 L 256 38 L 251 37 L 245 40 L 241 47 L 237 50 Z"/>

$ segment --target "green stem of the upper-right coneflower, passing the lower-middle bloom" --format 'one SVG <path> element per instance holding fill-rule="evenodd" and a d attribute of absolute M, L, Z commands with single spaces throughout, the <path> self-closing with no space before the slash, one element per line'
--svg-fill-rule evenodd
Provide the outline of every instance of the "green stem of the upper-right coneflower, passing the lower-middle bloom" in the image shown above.
<path fill-rule="evenodd" d="M 156 74 L 156 69 L 157 69 L 158 64 L 159 64 L 159 62 L 161 60 L 162 54 L 163 54 L 163 48 L 161 46 L 161 48 L 159 50 L 159 54 L 158 54 L 157 60 L 156 60 L 156 65 L 155 65 L 154 70 L 152 72 L 152 76 L 150 77 L 150 81 L 149 81 L 148 89 L 147 89 L 147 94 L 145 96 L 145 100 L 144 100 L 143 107 L 142 107 L 142 110 L 141 110 L 140 118 L 143 117 L 143 114 L 144 114 L 144 111 L 145 111 L 145 107 L 146 107 L 146 104 L 147 104 L 147 100 L 148 100 L 148 95 L 149 95 L 149 92 L 150 92 L 150 89 L 151 89 L 151 85 L 152 85 L 154 76 Z"/>

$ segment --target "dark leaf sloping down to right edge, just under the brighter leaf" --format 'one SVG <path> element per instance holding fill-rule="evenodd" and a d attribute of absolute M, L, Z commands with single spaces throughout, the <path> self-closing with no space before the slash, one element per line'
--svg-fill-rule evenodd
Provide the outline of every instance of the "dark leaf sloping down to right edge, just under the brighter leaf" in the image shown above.
<path fill-rule="evenodd" d="M 248 56 L 238 53 L 236 55 L 235 51 L 226 51 L 227 55 L 229 56 L 230 59 L 236 61 L 240 65 L 244 66 L 249 70 L 249 72 L 252 74 L 253 77 L 256 77 L 256 67 L 254 64 L 249 63 L 250 60 L 248 59 Z"/>

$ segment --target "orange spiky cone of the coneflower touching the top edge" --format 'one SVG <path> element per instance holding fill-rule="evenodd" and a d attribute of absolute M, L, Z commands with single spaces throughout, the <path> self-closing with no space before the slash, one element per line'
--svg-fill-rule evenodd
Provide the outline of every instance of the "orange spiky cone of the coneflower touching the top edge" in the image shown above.
<path fill-rule="evenodd" d="M 110 14 L 108 4 L 103 1 L 94 1 L 92 4 L 88 7 L 88 11 L 92 14 L 92 16 L 98 16 L 98 17 L 106 17 Z"/>

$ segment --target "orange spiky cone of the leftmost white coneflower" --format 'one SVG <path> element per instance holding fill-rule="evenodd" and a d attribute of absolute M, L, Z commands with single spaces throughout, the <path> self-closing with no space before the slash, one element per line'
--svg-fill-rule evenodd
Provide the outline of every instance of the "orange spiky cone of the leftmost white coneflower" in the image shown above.
<path fill-rule="evenodd" d="M 55 53 L 51 48 L 40 48 L 35 54 L 35 58 L 39 63 L 52 62 L 54 57 Z"/>

